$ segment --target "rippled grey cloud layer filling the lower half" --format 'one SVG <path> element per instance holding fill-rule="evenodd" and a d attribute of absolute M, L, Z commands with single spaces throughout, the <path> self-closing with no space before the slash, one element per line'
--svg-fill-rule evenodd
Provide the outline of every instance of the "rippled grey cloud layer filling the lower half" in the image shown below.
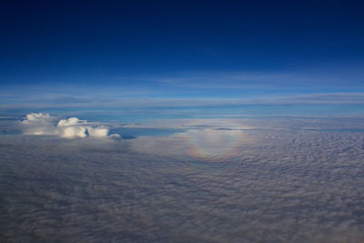
<path fill-rule="evenodd" d="M 52 119 L 30 120 L 41 117 Z M 235 133 L 203 128 L 153 145 L 145 137 L 0 136 L 0 235 L 9 242 L 362 241 L 363 133 Z M 255 142 L 208 163 L 183 156 L 177 145 L 186 137 L 200 151 L 215 139 Z"/>

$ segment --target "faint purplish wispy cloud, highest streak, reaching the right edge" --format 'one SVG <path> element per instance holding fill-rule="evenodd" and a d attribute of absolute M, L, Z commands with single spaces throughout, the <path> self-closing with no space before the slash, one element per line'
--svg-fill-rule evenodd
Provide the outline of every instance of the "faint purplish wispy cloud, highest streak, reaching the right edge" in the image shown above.
<path fill-rule="evenodd" d="M 218 72 L 199 71 L 183 72 L 170 75 L 137 75 L 118 76 L 116 80 L 122 82 L 136 81 L 138 84 L 161 84 L 164 86 L 176 86 L 179 88 L 197 89 L 271 89 L 271 90 L 297 90 L 297 89 L 331 89 L 333 87 L 355 88 L 362 87 L 361 80 L 364 77 L 362 66 L 347 70 L 337 67 L 335 74 L 332 70 L 300 70 L 281 72 Z"/>

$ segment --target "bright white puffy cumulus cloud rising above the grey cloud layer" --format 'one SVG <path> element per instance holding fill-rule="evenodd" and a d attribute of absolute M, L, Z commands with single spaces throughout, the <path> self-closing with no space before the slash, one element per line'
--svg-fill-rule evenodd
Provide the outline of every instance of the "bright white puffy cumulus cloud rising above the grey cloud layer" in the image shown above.
<path fill-rule="evenodd" d="M 119 137 L 117 134 L 108 135 L 105 126 L 92 126 L 86 120 L 76 117 L 58 120 L 47 113 L 31 113 L 22 121 L 25 135 L 53 135 L 66 138 L 76 137 Z"/>

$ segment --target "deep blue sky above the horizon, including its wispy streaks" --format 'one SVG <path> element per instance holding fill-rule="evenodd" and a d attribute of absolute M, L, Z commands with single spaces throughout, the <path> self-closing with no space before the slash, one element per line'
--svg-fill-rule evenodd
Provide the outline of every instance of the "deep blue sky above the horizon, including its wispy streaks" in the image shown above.
<path fill-rule="evenodd" d="M 362 1 L 2 1 L 0 9 L 5 106 L 364 99 Z"/>

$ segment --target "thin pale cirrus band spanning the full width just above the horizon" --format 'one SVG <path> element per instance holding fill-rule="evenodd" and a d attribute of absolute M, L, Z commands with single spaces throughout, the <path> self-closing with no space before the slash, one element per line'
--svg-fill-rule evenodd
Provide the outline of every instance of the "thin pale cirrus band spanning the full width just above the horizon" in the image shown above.
<path fill-rule="evenodd" d="M 240 105 L 350 105 L 364 104 L 364 93 L 316 93 L 286 96 L 249 97 L 100 97 L 98 100 L 85 99 L 83 102 L 55 103 L 53 98 L 42 102 L 28 100 L 24 103 L 0 105 L 1 110 L 30 108 L 73 108 L 73 107 L 181 107 L 181 106 L 240 106 Z"/>

